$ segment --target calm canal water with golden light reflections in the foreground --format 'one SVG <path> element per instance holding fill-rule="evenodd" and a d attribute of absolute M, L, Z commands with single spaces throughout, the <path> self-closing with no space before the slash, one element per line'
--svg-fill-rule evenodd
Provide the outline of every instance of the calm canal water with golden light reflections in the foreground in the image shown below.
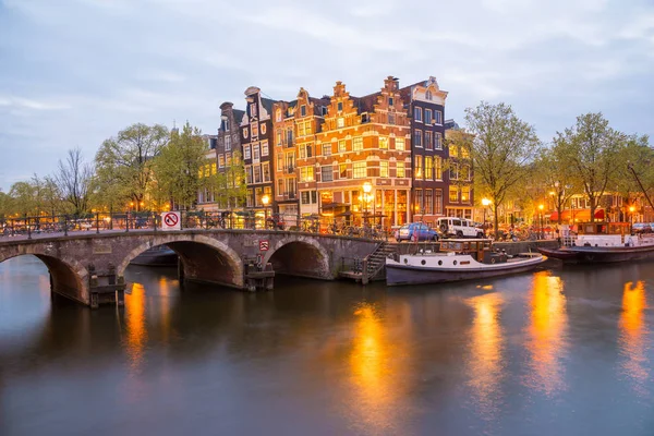
<path fill-rule="evenodd" d="M 652 435 L 653 264 L 51 299 L 0 264 L 0 435 Z"/>

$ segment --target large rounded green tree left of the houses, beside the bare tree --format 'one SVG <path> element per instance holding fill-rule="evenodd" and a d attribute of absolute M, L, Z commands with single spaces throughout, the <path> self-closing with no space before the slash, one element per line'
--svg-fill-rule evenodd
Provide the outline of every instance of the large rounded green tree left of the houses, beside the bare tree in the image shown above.
<path fill-rule="evenodd" d="M 153 184 L 154 158 L 169 140 L 161 124 L 133 124 L 106 140 L 96 154 L 98 198 L 113 205 L 133 202 L 141 208 Z"/>

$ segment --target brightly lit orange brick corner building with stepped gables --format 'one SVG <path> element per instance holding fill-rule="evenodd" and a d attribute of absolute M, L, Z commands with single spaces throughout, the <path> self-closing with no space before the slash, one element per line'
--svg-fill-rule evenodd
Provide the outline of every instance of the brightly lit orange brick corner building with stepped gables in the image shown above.
<path fill-rule="evenodd" d="M 366 210 L 386 227 L 407 222 L 409 129 L 397 78 L 387 77 L 380 92 L 361 98 L 337 82 L 315 148 L 308 143 L 299 147 L 301 210 L 315 210 L 315 186 L 317 210 L 324 215 L 352 214 L 358 221 Z M 363 195 L 365 182 L 373 186 L 370 197 Z"/>

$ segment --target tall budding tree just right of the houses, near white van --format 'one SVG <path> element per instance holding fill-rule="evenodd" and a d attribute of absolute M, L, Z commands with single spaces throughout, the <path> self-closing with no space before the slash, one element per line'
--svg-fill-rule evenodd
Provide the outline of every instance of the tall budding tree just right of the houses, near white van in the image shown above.
<path fill-rule="evenodd" d="M 541 148 L 535 129 L 520 120 L 509 105 L 482 101 L 465 109 L 475 183 L 489 197 L 498 233 L 498 208 L 510 190 L 528 178 L 529 165 Z"/>

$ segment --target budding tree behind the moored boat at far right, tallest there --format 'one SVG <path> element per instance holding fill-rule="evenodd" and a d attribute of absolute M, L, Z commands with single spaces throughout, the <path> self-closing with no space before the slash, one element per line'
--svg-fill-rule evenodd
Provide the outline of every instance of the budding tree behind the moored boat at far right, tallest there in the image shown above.
<path fill-rule="evenodd" d="M 609 183 L 619 174 L 619 156 L 623 152 L 627 137 L 608 126 L 602 113 L 586 113 L 577 117 L 577 124 L 557 132 L 554 153 L 572 171 L 591 205 L 591 222 L 595 220 L 600 198 Z"/>

